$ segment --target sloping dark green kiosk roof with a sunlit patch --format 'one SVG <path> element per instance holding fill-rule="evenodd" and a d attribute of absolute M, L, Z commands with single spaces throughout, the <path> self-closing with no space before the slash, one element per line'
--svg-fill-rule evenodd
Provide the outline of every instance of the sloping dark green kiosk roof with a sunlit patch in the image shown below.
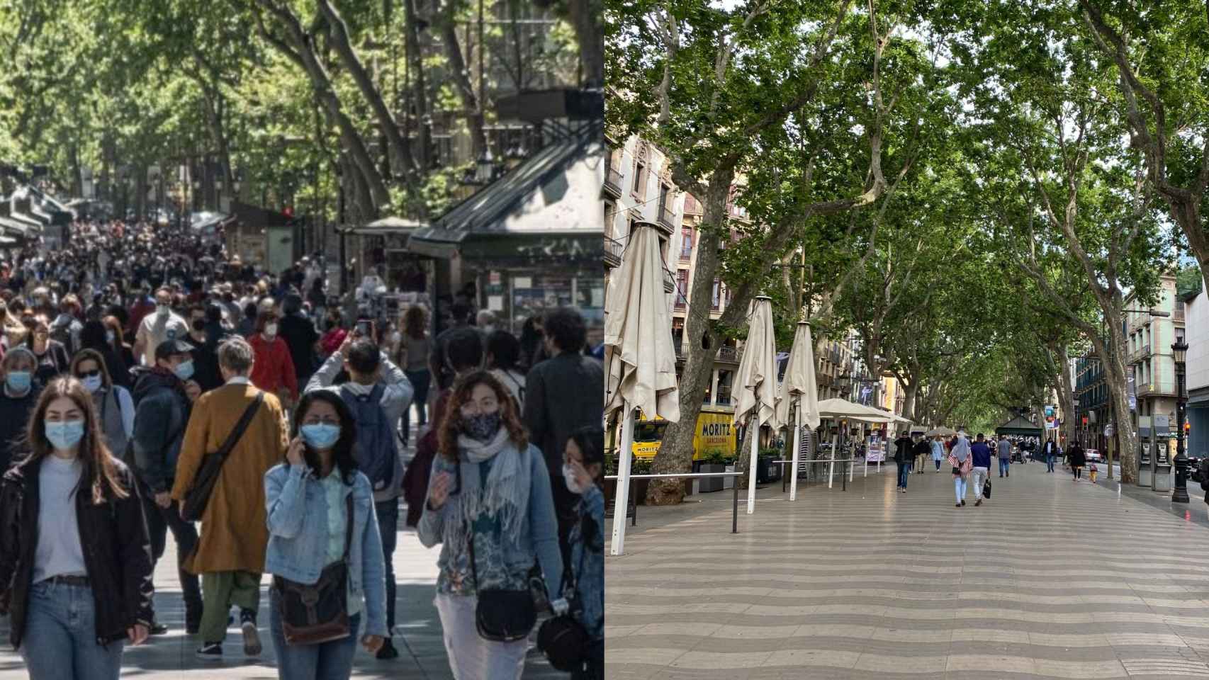
<path fill-rule="evenodd" d="M 600 260 L 603 170 L 598 130 L 589 127 L 551 141 L 432 225 L 417 228 L 409 250 L 525 263 Z"/>

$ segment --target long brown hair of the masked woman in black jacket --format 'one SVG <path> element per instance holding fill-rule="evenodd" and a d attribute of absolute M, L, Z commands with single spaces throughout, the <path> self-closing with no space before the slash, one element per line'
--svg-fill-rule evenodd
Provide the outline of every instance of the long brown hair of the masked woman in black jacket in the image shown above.
<path fill-rule="evenodd" d="M 29 444 L 29 457 L 25 461 L 35 461 L 51 455 L 54 448 L 46 438 L 46 409 L 51 402 L 60 396 L 75 402 L 76 408 L 83 413 L 83 438 L 80 440 L 80 460 L 83 463 L 83 475 L 80 476 L 80 488 L 83 484 L 92 487 L 92 502 L 100 505 L 105 501 L 105 488 L 114 498 L 127 498 L 129 489 L 125 488 L 117 478 L 117 460 L 105 446 L 105 437 L 100 434 L 100 424 L 97 418 L 97 408 L 92 405 L 92 395 L 85 389 L 83 383 L 71 376 L 60 376 L 51 380 L 37 397 L 37 405 L 29 418 L 25 428 L 25 441 Z M 76 489 L 80 490 L 79 488 Z"/>

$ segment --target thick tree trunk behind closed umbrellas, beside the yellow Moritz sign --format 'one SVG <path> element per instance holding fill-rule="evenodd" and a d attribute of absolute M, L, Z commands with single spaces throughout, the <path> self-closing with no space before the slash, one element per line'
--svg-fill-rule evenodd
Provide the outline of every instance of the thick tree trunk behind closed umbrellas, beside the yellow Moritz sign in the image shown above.
<path fill-rule="evenodd" d="M 718 246 L 728 231 L 727 198 L 730 194 L 730 184 L 734 176 L 733 165 L 718 168 L 710 176 L 706 190 L 705 215 L 702 215 L 701 228 L 698 229 L 700 240 L 696 246 L 696 262 L 694 262 L 695 275 L 688 298 L 690 313 L 684 324 L 684 333 L 689 338 L 689 351 L 679 378 L 681 419 L 678 423 L 669 423 L 667 429 L 664 430 L 664 441 L 650 464 L 650 471 L 656 475 L 687 472 L 693 465 L 693 435 L 696 430 L 696 414 L 701 411 L 705 391 L 713 380 L 713 359 L 718 355 L 718 345 L 721 344 L 708 315 L 699 310 L 705 308 L 702 301 L 710 300 L 713 289 L 713 273 L 718 269 Z M 729 238 L 729 234 L 725 238 Z M 737 298 L 731 298 L 730 303 L 746 304 Z M 694 312 L 693 307 L 696 307 L 698 313 L 692 313 Z M 737 389 L 739 385 L 735 388 Z M 740 458 L 742 458 L 741 452 Z M 647 505 L 675 505 L 681 502 L 683 498 L 684 484 L 681 482 L 652 480 L 647 489 Z"/>

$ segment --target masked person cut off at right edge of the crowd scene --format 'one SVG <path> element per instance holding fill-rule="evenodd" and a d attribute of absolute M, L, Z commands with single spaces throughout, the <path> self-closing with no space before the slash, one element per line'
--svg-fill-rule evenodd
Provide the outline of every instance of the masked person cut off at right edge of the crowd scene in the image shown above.
<path fill-rule="evenodd" d="M 575 620 L 588 632 L 588 659 L 572 680 L 604 678 L 604 431 L 596 426 L 571 434 L 562 453 L 562 477 L 567 489 L 579 496 L 578 519 L 567 534 L 574 574 Z M 568 579 L 569 580 L 569 579 Z"/>

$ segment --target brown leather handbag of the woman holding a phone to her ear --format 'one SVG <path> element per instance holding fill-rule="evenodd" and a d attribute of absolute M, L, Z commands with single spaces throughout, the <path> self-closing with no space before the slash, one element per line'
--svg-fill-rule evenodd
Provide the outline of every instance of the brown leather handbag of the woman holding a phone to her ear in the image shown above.
<path fill-rule="evenodd" d="M 323 568 L 314 583 L 273 577 L 288 645 L 317 645 L 352 634 L 348 622 L 348 548 L 353 542 L 353 494 L 345 496 L 345 554 Z"/>

